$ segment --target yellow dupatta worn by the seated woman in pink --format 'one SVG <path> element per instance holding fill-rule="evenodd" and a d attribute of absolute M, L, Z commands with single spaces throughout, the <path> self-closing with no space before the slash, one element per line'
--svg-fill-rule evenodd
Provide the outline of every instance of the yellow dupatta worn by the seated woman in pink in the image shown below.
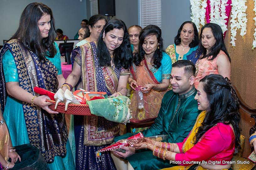
<path fill-rule="evenodd" d="M 197 117 L 195 125 L 193 126 L 193 129 L 189 133 L 187 140 L 184 142 L 184 144 L 182 146 L 183 153 L 187 152 L 189 149 L 191 149 L 194 146 L 194 142 L 196 139 L 195 136 L 198 131 L 198 127 L 200 127 L 202 125 L 205 115 L 206 115 L 206 111 L 202 111 L 199 114 L 199 116 Z M 175 166 L 175 167 L 170 167 L 170 168 L 164 168 L 162 170 L 188 170 L 191 166 L 193 166 L 193 165 Z M 204 169 L 203 167 L 201 167 L 200 165 L 198 165 L 195 169 L 196 170 L 207 170 L 207 169 Z M 223 169 L 223 170 L 227 170 L 227 169 Z"/>

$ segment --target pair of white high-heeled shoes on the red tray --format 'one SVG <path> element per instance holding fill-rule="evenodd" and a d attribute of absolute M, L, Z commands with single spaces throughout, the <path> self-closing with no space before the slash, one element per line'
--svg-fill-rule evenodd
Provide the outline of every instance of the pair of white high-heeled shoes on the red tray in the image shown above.
<path fill-rule="evenodd" d="M 65 111 L 68 110 L 68 104 L 69 103 L 80 104 L 80 102 L 75 98 L 73 93 L 68 89 L 66 89 L 65 92 L 62 89 L 59 89 L 55 93 L 54 99 L 55 99 L 55 102 L 56 102 L 54 109 L 57 109 L 57 106 L 60 102 L 65 103 Z"/>

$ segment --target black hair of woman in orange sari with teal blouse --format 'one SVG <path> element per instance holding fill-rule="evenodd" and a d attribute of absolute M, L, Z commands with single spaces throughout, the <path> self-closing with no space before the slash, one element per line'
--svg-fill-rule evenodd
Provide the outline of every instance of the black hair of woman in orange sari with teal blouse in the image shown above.
<path fill-rule="evenodd" d="M 133 62 L 135 65 L 140 66 L 141 61 L 145 59 L 144 57 L 145 51 L 142 48 L 142 45 L 144 43 L 145 38 L 148 35 L 155 35 L 157 38 L 158 47 L 156 48 L 152 59 L 153 59 L 154 67 L 158 69 L 161 66 L 161 60 L 163 58 L 162 52 L 164 52 L 164 45 L 163 45 L 163 39 L 162 39 L 162 31 L 156 25 L 148 25 L 145 28 L 143 28 L 139 33 L 138 52 L 134 54 Z"/>

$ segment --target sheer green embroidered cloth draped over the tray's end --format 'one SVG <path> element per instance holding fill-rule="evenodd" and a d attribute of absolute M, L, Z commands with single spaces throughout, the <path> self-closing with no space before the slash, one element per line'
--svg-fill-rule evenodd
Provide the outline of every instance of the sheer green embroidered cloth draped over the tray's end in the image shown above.
<path fill-rule="evenodd" d="M 87 101 L 91 114 L 118 123 L 127 123 L 132 118 L 130 114 L 130 99 L 124 95 Z"/>

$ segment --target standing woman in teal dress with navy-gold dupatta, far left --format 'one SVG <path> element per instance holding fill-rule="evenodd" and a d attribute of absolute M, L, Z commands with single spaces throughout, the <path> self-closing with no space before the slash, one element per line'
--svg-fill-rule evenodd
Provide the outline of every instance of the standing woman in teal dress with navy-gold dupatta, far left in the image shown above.
<path fill-rule="evenodd" d="M 14 146 L 37 147 L 52 170 L 75 169 L 64 114 L 50 110 L 50 98 L 33 90 L 56 92 L 65 81 L 55 36 L 52 10 L 30 3 L 0 52 L 1 109 Z"/>

